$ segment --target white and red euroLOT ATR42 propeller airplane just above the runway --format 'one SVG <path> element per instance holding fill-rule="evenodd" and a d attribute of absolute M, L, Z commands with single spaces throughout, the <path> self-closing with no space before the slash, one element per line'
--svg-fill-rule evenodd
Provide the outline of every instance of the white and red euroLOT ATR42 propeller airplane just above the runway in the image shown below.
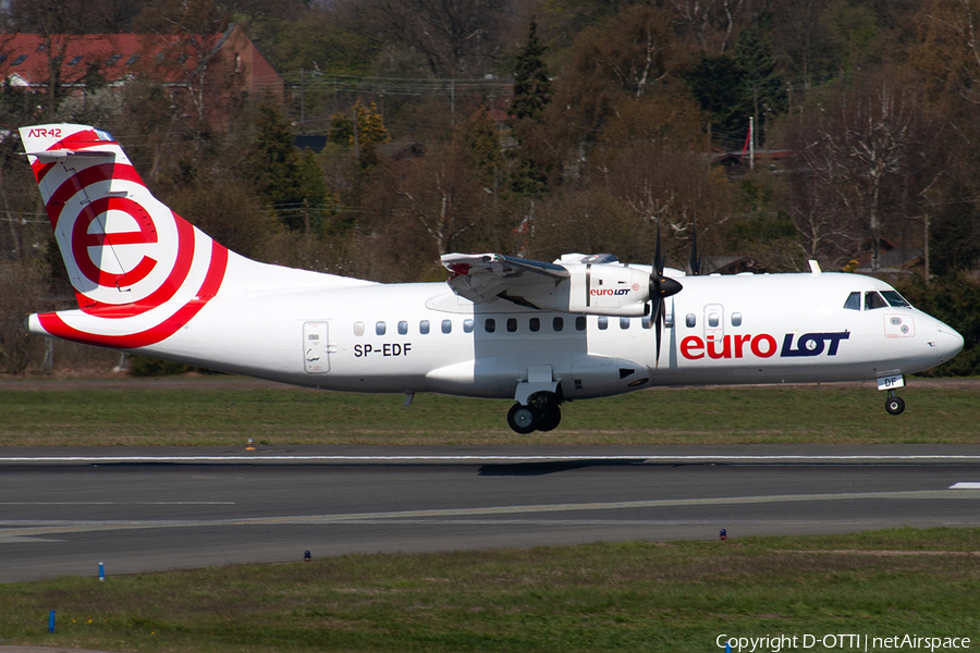
<path fill-rule="evenodd" d="M 554 262 L 442 257 L 446 283 L 382 284 L 229 251 L 156 199 L 122 147 L 85 125 L 23 127 L 78 308 L 33 334 L 298 386 L 514 402 L 517 433 L 551 431 L 565 402 L 660 385 L 905 375 L 963 337 L 870 276 L 697 274 L 610 255 Z M 681 281 L 678 281 L 681 280 Z M 683 283 L 682 283 L 683 282 Z"/>

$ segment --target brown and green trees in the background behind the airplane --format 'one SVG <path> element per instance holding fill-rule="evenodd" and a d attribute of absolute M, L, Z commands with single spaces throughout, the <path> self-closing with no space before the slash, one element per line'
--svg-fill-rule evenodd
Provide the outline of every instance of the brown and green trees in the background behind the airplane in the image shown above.
<path fill-rule="evenodd" d="M 455 250 L 646 262 L 658 230 L 683 269 L 695 229 L 706 257 L 869 268 L 964 333 L 971 350 L 947 369 L 976 373 L 978 20 L 980 0 L 12 0 L 7 33 L 242 25 L 290 93 L 229 101 L 216 71 L 195 96 L 224 98 L 216 121 L 149 78 L 107 88 L 93 70 L 82 98 L 5 85 L 0 122 L 102 126 L 226 246 L 378 281 L 440 280 Z M 750 122 L 755 169 L 726 173 Z M 4 274 L 69 304 L 12 134 Z M 323 149 L 295 148 L 302 134 Z M 882 242 L 921 251 L 928 274 L 890 271 Z M 26 309 L 2 310 L 3 365 L 23 369 L 11 325 Z"/>

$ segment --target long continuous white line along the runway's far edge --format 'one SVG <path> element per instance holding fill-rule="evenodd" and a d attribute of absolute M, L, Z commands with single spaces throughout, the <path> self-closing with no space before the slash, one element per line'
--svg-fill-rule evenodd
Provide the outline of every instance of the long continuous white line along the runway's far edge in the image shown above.
<path fill-rule="evenodd" d="M 0 464 L 16 463 L 928 463 L 955 461 L 980 463 L 980 455 L 678 455 L 678 456 L 514 456 L 514 455 L 418 455 L 418 456 L 319 456 L 319 455 L 228 455 L 228 456 L 0 456 Z"/>

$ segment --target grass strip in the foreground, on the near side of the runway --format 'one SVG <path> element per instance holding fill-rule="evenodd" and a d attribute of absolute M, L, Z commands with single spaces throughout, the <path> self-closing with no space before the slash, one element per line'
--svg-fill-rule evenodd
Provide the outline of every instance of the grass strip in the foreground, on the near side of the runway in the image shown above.
<path fill-rule="evenodd" d="M 66 578 L 0 586 L 0 640 L 192 653 L 710 651 L 721 633 L 977 642 L 978 542 L 980 529 L 898 529 Z"/>

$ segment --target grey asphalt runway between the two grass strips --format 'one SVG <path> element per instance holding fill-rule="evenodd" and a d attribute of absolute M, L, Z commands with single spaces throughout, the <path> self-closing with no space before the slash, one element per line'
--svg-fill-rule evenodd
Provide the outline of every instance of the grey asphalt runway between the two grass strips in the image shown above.
<path fill-rule="evenodd" d="M 980 527 L 980 446 L 0 451 L 0 582 L 901 526 Z"/>

